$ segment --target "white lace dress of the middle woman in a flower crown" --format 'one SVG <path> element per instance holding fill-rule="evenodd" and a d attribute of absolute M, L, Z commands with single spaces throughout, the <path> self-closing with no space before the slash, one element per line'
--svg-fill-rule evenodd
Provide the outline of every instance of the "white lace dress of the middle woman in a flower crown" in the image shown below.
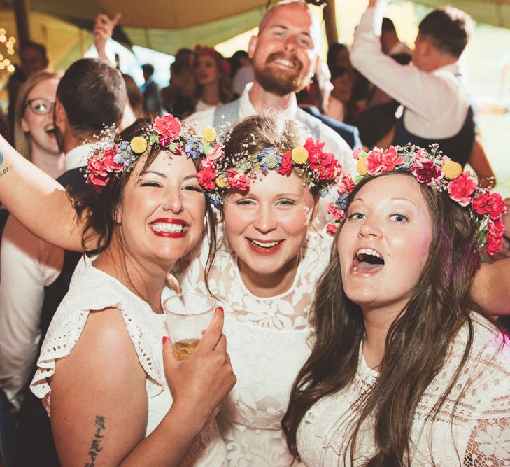
<path fill-rule="evenodd" d="M 224 333 L 237 377 L 218 415 L 229 466 L 289 466 L 292 456 L 280 424 L 292 383 L 311 351 L 311 295 L 327 265 L 331 237 L 309 233 L 292 287 L 271 298 L 259 298 L 247 290 L 234 253 L 221 238 L 219 244 L 223 246 L 216 253 L 209 286 L 225 309 Z M 206 244 L 197 256 L 185 265 L 178 280 L 183 291 L 207 293 Z"/>

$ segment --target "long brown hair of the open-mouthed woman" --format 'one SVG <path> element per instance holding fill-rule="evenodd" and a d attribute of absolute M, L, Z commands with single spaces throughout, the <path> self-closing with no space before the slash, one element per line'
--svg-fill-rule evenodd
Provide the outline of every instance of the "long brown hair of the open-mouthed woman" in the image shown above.
<path fill-rule="evenodd" d="M 381 176 L 392 174 L 395 172 Z M 374 178 L 367 176 L 362 180 L 348 202 Z M 374 417 L 379 452 L 366 465 L 411 465 L 410 436 L 418 402 L 444 365 L 455 335 L 465 326 L 467 342 L 460 365 L 428 414 L 432 419 L 437 416 L 472 347 L 470 313 L 481 313 L 469 295 L 470 281 L 480 264 L 480 255 L 474 246 L 476 228 L 469 212 L 452 202 L 448 193 L 419 185 L 432 220 L 428 258 L 409 302 L 388 330 L 378 379 L 356 402 L 359 418 L 352 421 L 348 433 L 342 434 L 347 440 L 343 442 L 343 459 L 350 457 L 350 463 L 360 454 L 355 452 L 360 426 Z M 282 421 L 288 447 L 295 459 L 299 459 L 296 433 L 304 414 L 320 398 L 338 393 L 353 382 L 364 336 L 361 308 L 343 291 L 337 253 L 339 232 L 330 263 L 318 281 L 311 309 L 316 337 L 313 350 L 292 387 L 289 407 Z"/>

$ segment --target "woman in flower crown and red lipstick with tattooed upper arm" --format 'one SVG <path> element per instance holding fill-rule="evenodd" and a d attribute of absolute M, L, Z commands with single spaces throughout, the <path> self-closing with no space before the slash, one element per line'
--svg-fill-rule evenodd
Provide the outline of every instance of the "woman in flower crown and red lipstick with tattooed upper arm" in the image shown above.
<path fill-rule="evenodd" d="M 141 119 L 88 160 L 97 194 L 75 202 L 94 250 L 76 267 L 31 383 L 63 465 L 225 465 L 214 411 L 235 377 L 222 310 L 178 362 L 161 306 L 167 272 L 203 235 L 199 158 L 185 149 L 196 139 L 171 116 Z"/>

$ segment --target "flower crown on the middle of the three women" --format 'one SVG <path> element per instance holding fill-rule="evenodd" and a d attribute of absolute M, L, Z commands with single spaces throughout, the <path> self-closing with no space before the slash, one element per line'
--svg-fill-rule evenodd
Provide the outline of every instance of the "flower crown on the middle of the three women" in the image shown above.
<path fill-rule="evenodd" d="M 304 186 L 318 187 L 323 196 L 337 182 L 343 170 L 332 153 L 323 151 L 324 145 L 309 138 L 303 146 L 292 149 L 270 146 L 257 152 L 255 148 L 258 145 L 253 137 L 252 141 L 243 143 L 241 153 L 232 157 L 215 148 L 201 161 L 197 179 L 206 190 L 208 201 L 215 207 L 223 204 L 229 188 L 247 191 L 250 180 L 255 179 L 257 173 L 267 174 L 268 170 L 289 176 L 294 168 L 303 179 Z M 260 168 L 260 171 L 255 168 Z"/>

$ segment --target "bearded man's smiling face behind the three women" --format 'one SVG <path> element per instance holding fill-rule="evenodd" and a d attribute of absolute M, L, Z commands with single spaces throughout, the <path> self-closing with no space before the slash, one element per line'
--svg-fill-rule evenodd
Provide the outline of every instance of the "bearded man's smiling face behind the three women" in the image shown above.
<path fill-rule="evenodd" d="M 306 6 L 275 7 L 248 46 L 257 82 L 280 96 L 302 90 L 316 70 L 319 43 L 320 29 Z"/>

